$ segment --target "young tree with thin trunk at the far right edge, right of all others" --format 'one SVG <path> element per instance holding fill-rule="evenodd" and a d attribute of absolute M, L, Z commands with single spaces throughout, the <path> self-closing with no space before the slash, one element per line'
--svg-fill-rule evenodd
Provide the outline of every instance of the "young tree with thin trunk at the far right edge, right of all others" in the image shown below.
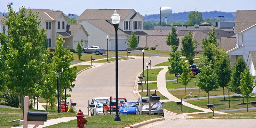
<path fill-rule="evenodd" d="M 238 88 L 241 90 L 241 93 L 245 96 L 247 100 L 247 112 L 248 112 L 248 97 L 250 96 L 253 88 L 254 88 L 254 82 L 253 82 L 254 76 L 252 76 L 249 72 L 249 69 L 245 69 L 244 72 L 241 72 L 241 86 Z"/>

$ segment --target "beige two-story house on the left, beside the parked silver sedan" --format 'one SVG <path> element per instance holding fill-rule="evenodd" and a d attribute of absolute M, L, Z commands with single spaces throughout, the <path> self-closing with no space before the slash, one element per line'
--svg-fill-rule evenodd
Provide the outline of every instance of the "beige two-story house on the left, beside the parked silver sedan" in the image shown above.
<path fill-rule="evenodd" d="M 63 46 L 74 50 L 76 50 L 76 45 L 81 39 L 83 39 L 83 45 L 88 41 L 89 34 L 84 26 L 82 24 L 68 24 L 68 19 L 63 12 L 50 9 L 26 10 L 32 10 L 33 13 L 38 12 L 38 17 L 41 18 L 41 26 L 47 33 L 47 42 L 50 49 L 55 47 L 59 35 L 65 40 Z"/>

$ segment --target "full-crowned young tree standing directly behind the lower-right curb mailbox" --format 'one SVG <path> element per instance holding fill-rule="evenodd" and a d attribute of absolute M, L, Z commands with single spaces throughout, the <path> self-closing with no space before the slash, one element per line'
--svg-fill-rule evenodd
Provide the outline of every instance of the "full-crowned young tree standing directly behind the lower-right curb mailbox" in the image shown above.
<path fill-rule="evenodd" d="M 198 74 L 198 86 L 208 93 L 209 104 L 209 92 L 219 87 L 217 74 L 212 68 L 212 64 L 208 63 L 207 58 L 200 61 L 203 68 L 200 68 L 201 73 Z"/>

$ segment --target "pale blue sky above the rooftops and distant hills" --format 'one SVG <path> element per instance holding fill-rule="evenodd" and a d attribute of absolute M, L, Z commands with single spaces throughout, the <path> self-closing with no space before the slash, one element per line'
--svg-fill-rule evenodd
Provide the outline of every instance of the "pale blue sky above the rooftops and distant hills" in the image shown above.
<path fill-rule="evenodd" d="M 236 12 L 236 10 L 256 10 L 255 0 L 0 0 L 0 12 L 8 12 L 7 4 L 12 2 L 17 12 L 21 6 L 60 10 L 65 14 L 80 15 L 85 9 L 135 9 L 141 15 L 159 14 L 160 7 L 172 8 L 178 12 Z M 117 12 L 118 13 L 118 12 Z"/>

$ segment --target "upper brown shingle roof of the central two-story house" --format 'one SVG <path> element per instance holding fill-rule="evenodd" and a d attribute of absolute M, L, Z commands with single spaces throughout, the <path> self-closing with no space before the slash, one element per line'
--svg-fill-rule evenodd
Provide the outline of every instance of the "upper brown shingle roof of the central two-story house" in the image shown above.
<path fill-rule="evenodd" d="M 116 9 L 120 20 L 124 19 L 133 9 Z M 77 20 L 83 19 L 105 19 L 111 20 L 115 9 L 86 9 Z"/>

